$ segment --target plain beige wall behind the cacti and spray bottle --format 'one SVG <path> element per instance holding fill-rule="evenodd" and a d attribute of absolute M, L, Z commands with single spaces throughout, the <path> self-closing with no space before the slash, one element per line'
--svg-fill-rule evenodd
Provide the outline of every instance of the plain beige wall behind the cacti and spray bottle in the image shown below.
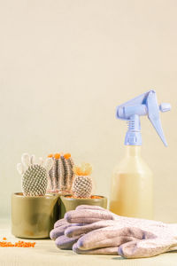
<path fill-rule="evenodd" d="M 177 2 L 0 0 L 0 216 L 20 191 L 21 153 L 70 152 L 109 195 L 124 155 L 115 107 L 150 89 L 170 102 L 165 148 L 142 118 L 157 219 L 177 222 Z"/>

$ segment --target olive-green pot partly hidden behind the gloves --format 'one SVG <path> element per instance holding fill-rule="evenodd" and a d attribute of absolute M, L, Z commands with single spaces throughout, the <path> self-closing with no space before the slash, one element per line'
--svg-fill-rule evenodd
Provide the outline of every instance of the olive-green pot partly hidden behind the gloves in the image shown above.
<path fill-rule="evenodd" d="M 60 197 L 60 218 L 63 218 L 66 212 L 75 209 L 79 205 L 94 205 L 107 208 L 107 198 L 104 196 L 98 196 L 100 197 L 98 199 L 77 199 L 67 196 L 68 195 L 64 195 Z"/>

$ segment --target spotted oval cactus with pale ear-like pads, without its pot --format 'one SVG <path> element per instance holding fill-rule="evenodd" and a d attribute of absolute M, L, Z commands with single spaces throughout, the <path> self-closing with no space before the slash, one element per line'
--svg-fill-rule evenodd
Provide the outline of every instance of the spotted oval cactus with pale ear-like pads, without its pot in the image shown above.
<path fill-rule="evenodd" d="M 48 158 L 43 164 L 35 163 L 35 155 L 31 157 L 24 153 L 21 157 L 22 163 L 18 163 L 17 169 L 22 176 L 22 192 L 24 196 L 43 196 L 47 191 L 48 172 L 52 167 L 53 161 Z"/>

